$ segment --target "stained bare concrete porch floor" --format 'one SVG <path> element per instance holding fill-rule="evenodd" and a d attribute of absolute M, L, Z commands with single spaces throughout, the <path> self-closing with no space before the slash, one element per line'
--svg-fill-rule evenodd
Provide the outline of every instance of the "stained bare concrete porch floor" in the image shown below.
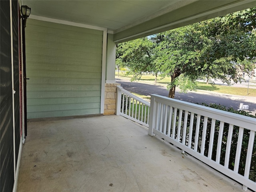
<path fill-rule="evenodd" d="M 122 116 L 28 122 L 18 192 L 234 192 L 242 186 Z"/>

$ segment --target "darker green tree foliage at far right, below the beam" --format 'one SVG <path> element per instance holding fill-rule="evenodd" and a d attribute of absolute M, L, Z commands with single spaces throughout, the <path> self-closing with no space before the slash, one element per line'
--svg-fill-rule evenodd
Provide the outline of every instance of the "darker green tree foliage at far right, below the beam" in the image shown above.
<path fill-rule="evenodd" d="M 230 84 L 230 80 L 241 80 L 242 73 L 239 72 L 253 70 L 255 26 L 256 8 L 200 22 L 198 27 L 202 34 L 211 40 L 202 56 L 203 74 Z"/>

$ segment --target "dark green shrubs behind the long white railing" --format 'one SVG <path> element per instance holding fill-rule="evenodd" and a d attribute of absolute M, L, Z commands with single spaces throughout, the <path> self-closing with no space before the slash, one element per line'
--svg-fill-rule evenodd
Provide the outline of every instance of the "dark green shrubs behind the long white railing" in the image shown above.
<path fill-rule="evenodd" d="M 218 109 L 218 110 L 224 110 L 227 112 L 232 112 L 236 114 L 240 114 L 243 116 L 248 116 L 250 118 L 256 118 L 256 114 L 252 115 L 250 112 L 246 111 L 237 111 L 234 110 L 233 108 L 227 108 L 226 106 L 223 105 L 217 105 L 217 104 L 201 104 L 206 107 Z M 198 143 L 197 143 L 197 148 L 196 151 L 201 153 L 201 147 L 202 147 L 202 138 L 203 134 L 205 133 L 205 140 L 204 140 L 204 156 L 209 157 L 213 161 L 216 161 L 216 156 L 217 156 L 217 146 L 218 146 L 218 137 L 219 137 L 219 130 L 220 130 L 220 121 L 219 120 L 214 120 L 215 121 L 215 128 L 213 132 L 213 144 L 212 144 L 212 154 L 210 155 L 210 138 L 211 138 L 211 132 L 212 132 L 212 119 L 207 118 L 207 126 L 205 132 L 203 131 L 204 128 L 204 118 L 203 115 L 198 115 L 198 114 L 192 114 L 191 112 L 188 112 L 188 117 L 187 117 L 187 123 L 186 123 L 186 137 L 183 138 L 183 128 L 184 128 L 184 119 L 185 119 L 185 111 L 182 111 L 182 115 L 180 116 L 180 109 L 177 109 L 176 112 L 176 118 L 174 118 L 174 110 L 172 111 L 172 124 L 173 120 L 176 119 L 176 126 L 175 126 L 175 135 L 174 138 L 176 140 L 179 140 L 180 142 L 183 142 L 183 139 L 185 139 L 185 144 L 188 146 L 188 139 L 189 139 L 189 134 L 191 134 L 192 139 L 191 139 L 191 148 L 194 149 L 195 147 L 195 142 L 196 142 L 196 130 L 198 128 Z M 191 116 L 193 117 L 193 124 L 190 125 L 190 119 Z M 178 122 L 179 119 L 181 118 L 181 133 L 180 133 L 180 138 L 177 138 L 177 127 L 178 127 Z M 199 121 L 198 121 L 199 118 Z M 197 125 L 197 122 L 199 122 L 199 125 Z M 190 132 L 190 126 L 192 126 L 192 133 Z M 171 129 L 174 126 L 171 126 Z M 221 146 L 220 146 L 220 164 L 224 166 L 225 163 L 225 158 L 226 158 L 226 147 L 227 147 L 227 141 L 228 141 L 228 132 L 230 129 L 230 124 L 224 123 L 223 127 L 223 134 L 221 138 Z M 230 147 L 230 156 L 229 156 L 229 163 L 228 163 L 228 168 L 230 170 L 234 170 L 235 166 L 235 160 L 236 160 L 236 150 L 238 146 L 238 135 L 239 135 L 239 130 L 240 128 L 238 126 L 233 126 L 233 132 L 232 132 L 232 138 L 231 138 L 231 147 Z M 167 134 L 167 132 L 166 132 Z M 170 133 L 172 136 L 172 130 Z M 173 136 L 172 136 L 173 137 Z M 242 134 L 242 146 L 241 146 L 241 153 L 240 153 L 240 159 L 239 159 L 239 166 L 238 166 L 238 174 L 244 175 L 245 172 L 245 164 L 246 164 L 246 156 L 247 156 L 247 150 L 248 150 L 248 143 L 249 143 L 249 137 L 250 137 L 250 130 L 244 129 L 243 134 Z M 250 163 L 250 172 L 249 172 L 249 179 L 252 180 L 253 182 L 256 182 L 256 136 L 254 136 L 254 144 L 253 144 L 253 150 L 252 150 L 252 159 Z"/>

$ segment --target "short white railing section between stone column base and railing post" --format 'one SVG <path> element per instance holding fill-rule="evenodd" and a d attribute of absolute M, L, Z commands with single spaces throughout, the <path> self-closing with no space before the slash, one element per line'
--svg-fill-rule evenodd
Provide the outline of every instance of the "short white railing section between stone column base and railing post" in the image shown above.
<path fill-rule="evenodd" d="M 148 127 L 150 103 L 117 86 L 116 115 Z"/>

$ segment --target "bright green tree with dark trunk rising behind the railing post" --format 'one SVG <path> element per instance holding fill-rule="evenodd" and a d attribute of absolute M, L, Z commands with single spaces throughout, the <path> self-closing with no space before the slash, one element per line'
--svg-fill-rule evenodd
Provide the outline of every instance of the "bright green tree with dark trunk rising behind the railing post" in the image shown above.
<path fill-rule="evenodd" d="M 174 98 L 176 86 L 183 91 L 194 90 L 193 82 L 201 74 L 201 50 L 207 39 L 194 25 L 190 25 L 157 34 L 154 42 L 157 44 L 156 63 L 160 64 L 161 76 L 171 77 L 168 96 Z"/>

